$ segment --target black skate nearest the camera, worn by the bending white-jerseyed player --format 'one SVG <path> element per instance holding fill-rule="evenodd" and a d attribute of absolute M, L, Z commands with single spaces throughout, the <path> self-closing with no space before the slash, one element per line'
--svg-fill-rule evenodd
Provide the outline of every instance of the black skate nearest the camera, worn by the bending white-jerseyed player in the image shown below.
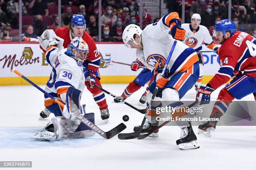
<path fill-rule="evenodd" d="M 197 136 L 195 135 L 190 122 L 188 126 L 182 128 L 180 139 L 176 140 L 176 144 L 181 150 L 199 148 L 199 145 L 197 144 Z"/>

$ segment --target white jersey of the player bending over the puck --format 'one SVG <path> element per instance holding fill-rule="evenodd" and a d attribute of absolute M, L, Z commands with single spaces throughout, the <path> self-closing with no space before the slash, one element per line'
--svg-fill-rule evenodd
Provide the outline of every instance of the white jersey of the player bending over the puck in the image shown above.
<path fill-rule="evenodd" d="M 146 26 L 141 34 L 143 54 L 137 50 L 137 58 L 151 70 L 155 67 L 164 67 L 174 43 L 169 34 L 170 20 L 175 18 L 172 14 L 168 13 L 159 22 Z M 172 77 L 177 72 L 185 72 L 197 61 L 195 50 L 177 41 L 167 69 Z"/>

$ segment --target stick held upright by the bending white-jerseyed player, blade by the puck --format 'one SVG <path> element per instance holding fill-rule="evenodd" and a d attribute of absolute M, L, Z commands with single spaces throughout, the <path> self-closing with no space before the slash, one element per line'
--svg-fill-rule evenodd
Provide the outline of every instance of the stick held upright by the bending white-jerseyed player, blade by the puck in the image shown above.
<path fill-rule="evenodd" d="M 166 60 L 166 63 L 165 63 L 165 65 L 164 65 L 164 68 L 163 68 L 163 71 L 162 71 L 162 73 L 161 73 L 161 76 L 164 76 L 165 70 L 167 69 L 167 65 L 169 64 L 169 61 L 170 61 L 170 59 L 171 59 L 171 57 L 172 57 L 172 53 L 173 53 L 173 51 L 174 51 L 174 48 L 175 48 L 176 44 L 177 44 L 177 40 L 174 40 L 174 43 L 173 43 L 172 48 L 171 48 L 171 51 L 169 52 L 169 55 L 168 55 L 168 57 L 167 57 L 167 60 Z M 119 138 L 119 139 L 121 139 L 121 140 L 134 139 L 134 138 L 138 138 L 138 137 L 140 136 L 142 127 L 143 127 L 143 125 L 144 125 L 144 123 L 145 123 L 145 121 L 146 121 L 146 118 L 147 118 L 147 116 L 148 116 L 148 112 L 149 112 L 149 110 L 151 109 L 152 102 L 153 102 L 153 100 L 154 100 L 154 98 L 155 98 L 155 96 L 156 96 L 156 93 L 157 93 L 158 89 L 159 89 L 159 87 L 156 86 L 156 88 L 155 88 L 155 90 L 154 90 L 154 93 L 153 93 L 153 95 L 152 95 L 152 98 L 151 98 L 151 100 L 150 100 L 150 102 L 149 102 L 149 105 L 147 106 L 146 114 L 145 114 L 145 116 L 144 116 L 144 118 L 143 118 L 143 120 L 142 120 L 142 122 L 141 122 L 141 126 L 140 126 L 140 128 L 138 129 L 138 131 L 133 132 L 133 133 L 120 133 L 120 134 L 118 134 L 118 138 Z"/>

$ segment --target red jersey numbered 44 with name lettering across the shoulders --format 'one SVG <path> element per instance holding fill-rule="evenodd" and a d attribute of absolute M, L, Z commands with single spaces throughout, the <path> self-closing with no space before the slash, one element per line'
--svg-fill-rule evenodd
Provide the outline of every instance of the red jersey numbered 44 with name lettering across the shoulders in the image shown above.
<path fill-rule="evenodd" d="M 220 69 L 208 84 L 216 89 L 228 82 L 234 70 L 256 77 L 256 39 L 246 32 L 236 31 L 220 47 Z"/>

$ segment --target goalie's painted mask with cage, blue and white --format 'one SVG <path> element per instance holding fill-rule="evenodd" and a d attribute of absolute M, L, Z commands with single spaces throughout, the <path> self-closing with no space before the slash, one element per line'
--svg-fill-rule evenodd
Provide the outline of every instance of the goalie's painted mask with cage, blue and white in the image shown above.
<path fill-rule="evenodd" d="M 72 42 L 67 47 L 66 55 L 74 58 L 78 66 L 82 66 L 84 60 L 87 59 L 89 54 L 89 47 L 81 37 L 74 37 Z"/>

